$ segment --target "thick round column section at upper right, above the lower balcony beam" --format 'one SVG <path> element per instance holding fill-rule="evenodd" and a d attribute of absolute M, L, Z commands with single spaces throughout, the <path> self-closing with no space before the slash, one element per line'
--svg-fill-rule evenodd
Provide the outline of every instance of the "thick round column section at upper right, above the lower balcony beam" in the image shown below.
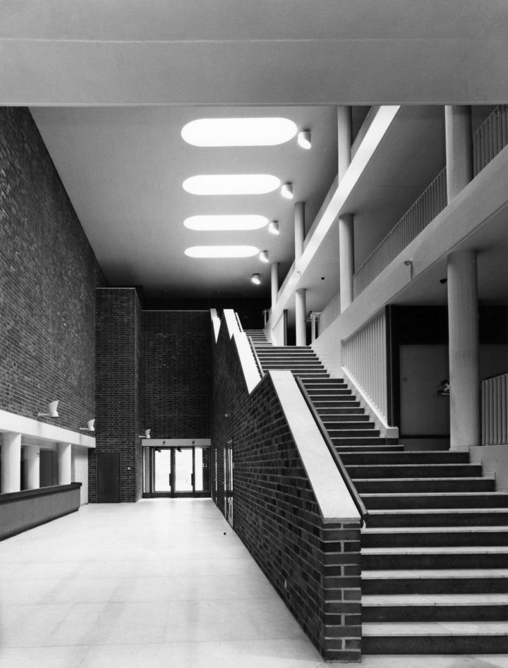
<path fill-rule="evenodd" d="M 473 178 L 471 107 L 444 107 L 448 202 Z"/>

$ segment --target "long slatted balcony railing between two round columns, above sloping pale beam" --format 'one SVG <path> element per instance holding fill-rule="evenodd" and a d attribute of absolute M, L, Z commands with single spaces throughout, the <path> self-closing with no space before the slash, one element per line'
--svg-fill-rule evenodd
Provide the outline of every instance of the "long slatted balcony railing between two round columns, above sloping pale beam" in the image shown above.
<path fill-rule="evenodd" d="M 392 260 L 447 205 L 446 167 L 425 190 L 413 206 L 406 211 L 397 225 L 385 236 L 380 245 L 369 255 L 353 275 L 353 298 L 365 290 Z"/>

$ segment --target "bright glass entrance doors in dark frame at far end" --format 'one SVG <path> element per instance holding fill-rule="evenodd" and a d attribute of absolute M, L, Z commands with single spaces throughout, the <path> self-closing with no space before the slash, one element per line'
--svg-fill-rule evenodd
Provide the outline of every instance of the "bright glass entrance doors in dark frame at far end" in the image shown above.
<path fill-rule="evenodd" d="M 209 497 L 210 448 L 144 447 L 143 497 Z"/>

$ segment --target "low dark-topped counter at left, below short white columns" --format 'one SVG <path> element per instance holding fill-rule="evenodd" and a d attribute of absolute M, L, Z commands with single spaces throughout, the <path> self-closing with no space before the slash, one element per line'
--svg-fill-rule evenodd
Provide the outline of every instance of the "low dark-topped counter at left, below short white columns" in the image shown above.
<path fill-rule="evenodd" d="M 0 540 L 79 509 L 80 482 L 0 494 Z"/>

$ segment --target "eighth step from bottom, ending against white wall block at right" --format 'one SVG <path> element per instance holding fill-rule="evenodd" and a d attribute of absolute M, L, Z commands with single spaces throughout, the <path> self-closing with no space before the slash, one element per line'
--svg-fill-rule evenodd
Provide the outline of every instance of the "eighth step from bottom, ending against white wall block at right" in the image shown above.
<path fill-rule="evenodd" d="M 350 473 L 351 475 L 351 473 Z M 355 478 L 360 494 L 399 494 L 409 492 L 493 492 L 493 476 L 476 478 Z"/>

